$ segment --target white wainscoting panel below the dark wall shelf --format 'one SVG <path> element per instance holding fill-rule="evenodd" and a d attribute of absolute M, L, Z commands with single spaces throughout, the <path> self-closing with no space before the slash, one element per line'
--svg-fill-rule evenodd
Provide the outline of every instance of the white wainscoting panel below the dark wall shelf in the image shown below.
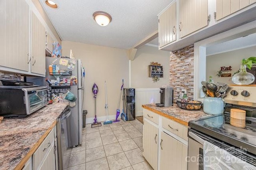
<path fill-rule="evenodd" d="M 142 105 L 160 103 L 160 88 L 135 89 L 135 115 L 143 116 Z"/>

